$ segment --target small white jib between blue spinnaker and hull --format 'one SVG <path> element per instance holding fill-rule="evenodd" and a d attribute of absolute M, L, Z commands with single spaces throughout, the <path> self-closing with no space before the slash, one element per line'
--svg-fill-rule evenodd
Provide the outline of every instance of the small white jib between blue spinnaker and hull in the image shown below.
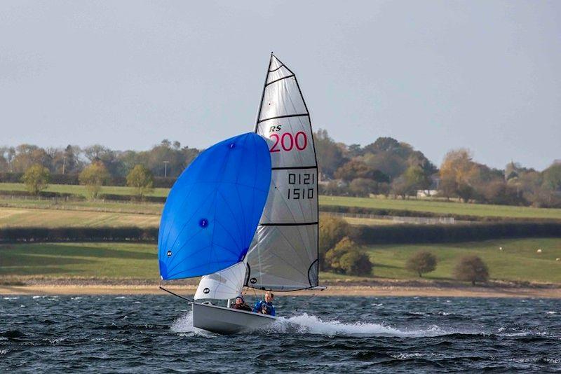
<path fill-rule="evenodd" d="M 240 261 L 219 272 L 205 275 L 198 283 L 195 300 L 212 298 L 227 300 L 241 295 L 245 284 L 246 262 Z"/>

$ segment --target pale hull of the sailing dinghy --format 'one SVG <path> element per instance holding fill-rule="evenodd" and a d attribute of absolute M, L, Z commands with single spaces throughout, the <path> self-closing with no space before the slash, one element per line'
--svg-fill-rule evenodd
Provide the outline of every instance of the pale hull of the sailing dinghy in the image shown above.
<path fill-rule="evenodd" d="M 271 324 L 276 317 L 217 305 L 191 303 L 193 326 L 212 333 L 232 334 Z"/>

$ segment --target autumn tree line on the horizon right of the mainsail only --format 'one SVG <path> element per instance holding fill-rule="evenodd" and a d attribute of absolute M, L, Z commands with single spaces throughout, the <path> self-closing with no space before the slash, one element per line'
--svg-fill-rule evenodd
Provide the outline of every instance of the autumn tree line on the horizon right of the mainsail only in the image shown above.
<path fill-rule="evenodd" d="M 561 207 L 559 160 L 541 172 L 517 162 L 495 169 L 460 148 L 448 152 L 438 168 L 421 151 L 391 137 L 366 146 L 346 145 L 319 130 L 314 139 L 323 179 L 320 192 L 326 195 L 406 199 L 436 193 L 464 202 Z"/>

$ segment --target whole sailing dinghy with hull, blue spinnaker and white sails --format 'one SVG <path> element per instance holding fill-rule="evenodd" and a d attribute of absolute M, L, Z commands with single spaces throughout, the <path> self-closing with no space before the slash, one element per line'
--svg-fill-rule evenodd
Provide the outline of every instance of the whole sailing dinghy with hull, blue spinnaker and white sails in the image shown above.
<path fill-rule="evenodd" d="M 255 133 L 198 155 L 163 209 L 161 279 L 203 276 L 189 300 L 194 327 L 236 333 L 274 321 L 229 308 L 244 287 L 321 288 L 317 170 L 309 112 L 295 74 L 271 53 Z"/>

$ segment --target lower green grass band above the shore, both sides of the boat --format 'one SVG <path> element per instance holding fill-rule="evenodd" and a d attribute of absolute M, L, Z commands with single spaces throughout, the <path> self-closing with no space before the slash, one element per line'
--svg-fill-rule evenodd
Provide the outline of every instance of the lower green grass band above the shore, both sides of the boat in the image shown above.
<path fill-rule="evenodd" d="M 503 251 L 499 251 L 503 247 Z M 536 254 L 536 249 L 542 254 Z M 561 284 L 561 239 L 492 240 L 461 244 L 387 245 L 366 249 L 374 275 L 389 279 L 418 279 L 405 270 L 407 258 L 419 249 L 432 251 L 438 267 L 425 279 L 452 278 L 456 261 L 477 254 L 489 266 L 492 279 Z M 46 243 L 0 245 L 0 277 L 94 277 L 158 279 L 154 244 Z M 323 279 L 354 278 L 322 273 Z"/>

